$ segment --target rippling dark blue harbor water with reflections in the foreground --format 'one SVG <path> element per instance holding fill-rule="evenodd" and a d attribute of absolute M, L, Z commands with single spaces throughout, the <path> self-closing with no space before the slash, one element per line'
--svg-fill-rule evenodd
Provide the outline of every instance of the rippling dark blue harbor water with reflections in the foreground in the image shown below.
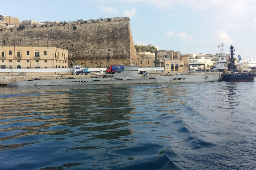
<path fill-rule="evenodd" d="M 0 169 L 256 169 L 255 94 L 256 82 L 0 87 Z"/>

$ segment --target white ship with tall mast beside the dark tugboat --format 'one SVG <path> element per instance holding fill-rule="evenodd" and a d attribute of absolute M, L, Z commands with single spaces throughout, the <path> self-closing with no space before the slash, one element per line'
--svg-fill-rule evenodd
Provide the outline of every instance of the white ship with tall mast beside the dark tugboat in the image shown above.
<path fill-rule="evenodd" d="M 223 52 L 223 42 L 218 47 L 221 47 L 221 53 L 218 54 L 218 60 L 213 63 L 212 68 L 210 69 L 212 72 L 223 72 L 227 64 L 227 55 Z"/>

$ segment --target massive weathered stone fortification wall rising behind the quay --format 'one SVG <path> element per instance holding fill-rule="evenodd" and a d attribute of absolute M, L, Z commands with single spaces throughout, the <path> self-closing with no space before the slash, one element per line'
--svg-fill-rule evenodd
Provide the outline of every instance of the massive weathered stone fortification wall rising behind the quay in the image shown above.
<path fill-rule="evenodd" d="M 131 64 L 131 37 L 130 19 L 122 17 L 7 28 L 0 32 L 0 45 L 56 46 L 68 49 L 70 62 L 106 67 L 112 61 Z"/>

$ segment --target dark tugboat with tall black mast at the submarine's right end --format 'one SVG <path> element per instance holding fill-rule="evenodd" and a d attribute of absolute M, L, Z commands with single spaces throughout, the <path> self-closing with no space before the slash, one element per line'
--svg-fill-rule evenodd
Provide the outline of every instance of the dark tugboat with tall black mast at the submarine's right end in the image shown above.
<path fill-rule="evenodd" d="M 234 59 L 234 46 L 230 46 L 230 59 L 228 63 L 228 70 L 224 71 L 222 76 L 222 81 L 253 81 L 254 74 L 248 71 L 238 71 L 235 65 Z"/>

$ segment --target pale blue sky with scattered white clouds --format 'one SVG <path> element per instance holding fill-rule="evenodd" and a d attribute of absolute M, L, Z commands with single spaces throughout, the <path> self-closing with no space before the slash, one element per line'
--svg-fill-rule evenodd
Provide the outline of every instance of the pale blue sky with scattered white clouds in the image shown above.
<path fill-rule="evenodd" d="M 11 2 L 11 4 L 10 4 Z M 224 52 L 256 60 L 255 0 L 12 0 L 0 15 L 24 20 L 76 21 L 130 17 L 135 44 L 182 54 Z"/>

